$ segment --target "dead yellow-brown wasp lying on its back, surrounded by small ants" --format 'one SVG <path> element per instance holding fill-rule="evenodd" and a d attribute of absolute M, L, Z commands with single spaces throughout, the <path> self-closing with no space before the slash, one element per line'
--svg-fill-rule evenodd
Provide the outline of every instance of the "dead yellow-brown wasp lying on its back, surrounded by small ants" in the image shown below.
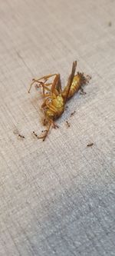
<path fill-rule="evenodd" d="M 37 136 L 37 138 L 43 138 L 43 141 L 47 137 L 51 125 L 53 125 L 54 128 L 58 127 L 58 125 L 55 125 L 54 120 L 63 114 L 67 100 L 79 91 L 82 85 L 87 84 L 89 81 L 87 77 L 84 77 L 84 73 L 77 72 L 77 75 L 74 75 L 76 67 L 77 62 L 75 61 L 73 62 L 71 75 L 69 75 L 64 90 L 61 88 L 60 74 L 44 75 L 41 78 L 33 79 L 31 82 L 28 92 L 30 92 L 32 85 L 38 83 L 38 87 L 43 89 L 45 98 L 41 108 L 44 109 L 44 124 L 47 126 L 47 130 L 44 131 L 44 135 Z M 54 77 L 54 81 L 48 83 L 48 80 L 52 77 Z M 35 131 L 33 133 L 35 134 Z"/>

